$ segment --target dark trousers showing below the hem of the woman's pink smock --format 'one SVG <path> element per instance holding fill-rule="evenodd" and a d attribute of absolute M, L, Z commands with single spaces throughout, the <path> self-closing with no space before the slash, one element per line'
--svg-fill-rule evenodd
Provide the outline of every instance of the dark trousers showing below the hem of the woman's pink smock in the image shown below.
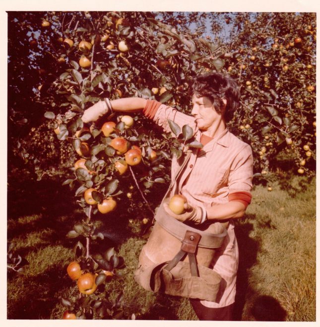
<path fill-rule="evenodd" d="M 190 303 L 199 320 L 232 321 L 234 303 L 222 308 L 207 308 L 195 299 Z"/>

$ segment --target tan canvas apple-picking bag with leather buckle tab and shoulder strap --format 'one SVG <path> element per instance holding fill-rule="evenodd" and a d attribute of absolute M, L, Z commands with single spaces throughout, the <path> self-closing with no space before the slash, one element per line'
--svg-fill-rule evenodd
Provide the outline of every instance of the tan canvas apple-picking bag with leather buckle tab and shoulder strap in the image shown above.
<path fill-rule="evenodd" d="M 157 210 L 156 222 L 140 252 L 134 279 L 149 291 L 215 301 L 221 276 L 209 267 L 227 235 L 228 223 L 202 224 L 202 230 L 195 229 L 171 217 L 163 208 L 190 156 L 191 153 L 187 153 Z"/>

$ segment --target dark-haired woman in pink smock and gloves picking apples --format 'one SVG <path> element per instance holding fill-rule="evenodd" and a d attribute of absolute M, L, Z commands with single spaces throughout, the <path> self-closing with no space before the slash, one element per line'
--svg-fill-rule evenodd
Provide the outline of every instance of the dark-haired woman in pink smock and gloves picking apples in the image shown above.
<path fill-rule="evenodd" d="M 191 115 L 154 100 L 122 98 L 96 103 L 84 112 L 82 120 L 95 121 L 111 110 L 142 111 L 166 132 L 171 132 L 168 119 L 180 127 L 185 124 L 192 127 L 194 137 L 203 148 L 192 150 L 188 164 L 171 190 L 171 196 L 179 193 L 187 198 L 187 211 L 176 215 L 168 206 L 165 210 L 179 221 L 190 221 L 195 225 L 205 220 L 230 221 L 228 234 L 212 262 L 213 270 L 223 280 L 216 302 L 190 300 L 199 320 L 230 321 L 239 257 L 232 219 L 241 218 L 251 202 L 253 156 L 251 147 L 226 127 L 226 122 L 239 105 L 237 83 L 221 73 L 211 73 L 195 78 L 192 91 Z M 174 158 L 173 179 L 178 168 L 179 163 Z"/>

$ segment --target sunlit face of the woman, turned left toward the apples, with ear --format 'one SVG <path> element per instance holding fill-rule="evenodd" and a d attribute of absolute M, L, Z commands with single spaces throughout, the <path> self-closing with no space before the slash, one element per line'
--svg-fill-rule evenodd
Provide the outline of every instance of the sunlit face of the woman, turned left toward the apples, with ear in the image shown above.
<path fill-rule="evenodd" d="M 220 113 L 218 113 L 208 97 L 193 95 L 191 114 L 195 118 L 195 122 L 200 130 L 208 131 L 214 128 L 223 119 L 227 101 L 224 98 L 222 101 L 224 106 L 220 108 Z"/>

